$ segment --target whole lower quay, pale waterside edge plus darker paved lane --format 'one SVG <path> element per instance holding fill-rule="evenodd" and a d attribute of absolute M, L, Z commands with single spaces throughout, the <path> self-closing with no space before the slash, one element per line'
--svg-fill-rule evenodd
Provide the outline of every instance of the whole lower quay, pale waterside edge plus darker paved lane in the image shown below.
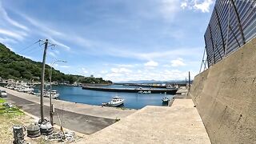
<path fill-rule="evenodd" d="M 26 113 L 40 117 L 40 98 L 32 94 L 26 94 L 0 86 L 0 90 L 6 90 L 7 102 L 20 107 Z M 45 116 L 49 118 L 49 98 L 44 99 Z M 116 119 L 126 118 L 137 110 L 122 110 L 114 107 L 92 106 L 82 103 L 52 100 L 55 107 L 54 122 L 60 126 L 57 113 L 63 118 L 63 126 L 82 134 L 94 134 L 106 126 L 112 125 Z"/>

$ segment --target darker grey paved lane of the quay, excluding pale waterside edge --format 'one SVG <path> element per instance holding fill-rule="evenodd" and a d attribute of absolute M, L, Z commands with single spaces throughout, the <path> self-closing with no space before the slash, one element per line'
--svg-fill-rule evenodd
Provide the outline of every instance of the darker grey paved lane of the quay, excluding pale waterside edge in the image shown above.
<path fill-rule="evenodd" d="M 8 94 L 8 97 L 6 98 L 7 102 L 14 103 L 15 106 L 20 107 L 22 110 L 26 111 L 29 114 L 32 114 L 38 118 L 40 118 L 40 105 L 35 102 L 30 102 L 23 98 L 18 98 L 14 95 Z M 50 107 L 45 106 L 44 107 L 44 116 L 50 119 L 49 116 Z M 63 122 L 63 127 L 78 131 L 82 134 L 93 134 L 98 130 L 102 130 L 106 126 L 112 125 L 115 120 L 110 118 L 100 118 L 100 117 L 94 117 L 90 115 L 85 114 L 78 114 L 66 110 L 61 109 L 55 109 L 54 113 L 54 123 L 58 124 L 60 126 L 58 116 L 59 114 L 60 118 Z"/>

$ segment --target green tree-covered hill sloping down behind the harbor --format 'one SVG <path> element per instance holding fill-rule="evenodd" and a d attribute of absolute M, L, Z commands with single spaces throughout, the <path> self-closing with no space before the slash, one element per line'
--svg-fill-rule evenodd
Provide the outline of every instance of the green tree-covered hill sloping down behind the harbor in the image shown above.
<path fill-rule="evenodd" d="M 34 62 L 29 58 L 15 54 L 0 43 L 0 77 L 4 79 L 39 81 L 41 78 L 42 62 Z M 50 66 L 46 65 L 46 80 L 49 80 Z M 52 81 L 82 82 L 82 83 L 112 83 L 102 78 L 88 78 L 81 75 L 63 74 L 59 70 L 52 71 Z"/>

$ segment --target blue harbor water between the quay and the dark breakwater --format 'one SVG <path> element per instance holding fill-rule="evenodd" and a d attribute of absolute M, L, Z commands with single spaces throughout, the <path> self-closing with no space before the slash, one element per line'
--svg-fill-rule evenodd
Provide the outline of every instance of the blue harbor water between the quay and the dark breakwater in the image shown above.
<path fill-rule="evenodd" d="M 78 86 L 53 86 L 53 90 L 58 90 L 60 94 L 58 99 L 60 100 L 98 106 L 101 106 L 102 102 L 109 102 L 114 96 L 118 96 L 125 98 L 123 107 L 131 109 L 141 109 L 144 106 L 165 106 L 166 104 L 162 103 L 162 98 L 173 98 L 173 95 L 170 94 L 138 94 L 82 90 L 82 87 Z"/>

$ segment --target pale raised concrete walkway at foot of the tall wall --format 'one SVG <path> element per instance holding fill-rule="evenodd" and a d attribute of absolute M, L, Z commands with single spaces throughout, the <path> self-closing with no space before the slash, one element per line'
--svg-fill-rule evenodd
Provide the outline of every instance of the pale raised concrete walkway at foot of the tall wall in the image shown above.
<path fill-rule="evenodd" d="M 90 135 L 82 143 L 210 143 L 191 99 L 173 106 L 146 106 Z"/>

